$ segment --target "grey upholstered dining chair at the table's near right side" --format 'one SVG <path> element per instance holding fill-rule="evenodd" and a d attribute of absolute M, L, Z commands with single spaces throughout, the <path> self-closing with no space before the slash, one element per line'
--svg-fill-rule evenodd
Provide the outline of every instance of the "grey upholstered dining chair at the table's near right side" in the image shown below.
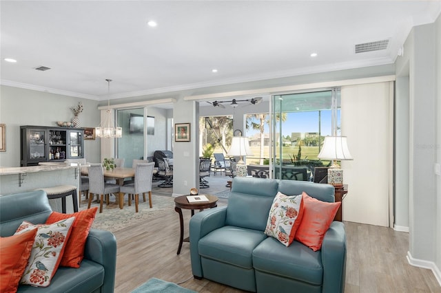
<path fill-rule="evenodd" d="M 132 205 L 131 195 L 135 195 L 135 211 L 138 213 L 139 194 L 143 194 L 145 202 L 145 193 L 149 193 L 149 204 L 152 208 L 152 176 L 153 176 L 154 163 L 139 163 L 135 166 L 135 182 L 133 184 L 127 184 L 121 186 L 119 189 L 120 200 L 124 197 L 125 193 L 129 194 L 129 206 Z"/>

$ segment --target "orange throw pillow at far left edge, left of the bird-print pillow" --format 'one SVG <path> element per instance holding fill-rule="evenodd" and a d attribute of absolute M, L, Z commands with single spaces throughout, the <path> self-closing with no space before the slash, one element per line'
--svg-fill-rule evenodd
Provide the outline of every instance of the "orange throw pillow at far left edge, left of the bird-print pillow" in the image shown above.
<path fill-rule="evenodd" d="M 17 292 L 21 275 L 28 265 L 37 230 L 0 237 L 0 292 Z"/>

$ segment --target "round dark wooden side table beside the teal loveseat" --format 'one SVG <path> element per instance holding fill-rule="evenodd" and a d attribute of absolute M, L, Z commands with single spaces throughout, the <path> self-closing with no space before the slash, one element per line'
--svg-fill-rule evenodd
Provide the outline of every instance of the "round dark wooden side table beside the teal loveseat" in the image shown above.
<path fill-rule="evenodd" d="M 181 224 L 181 236 L 179 237 L 179 246 L 178 252 L 176 254 L 181 253 L 182 243 L 183 241 L 188 242 L 189 239 L 184 239 L 184 219 L 182 216 L 182 209 L 192 210 L 192 217 L 194 215 L 194 210 L 203 210 L 205 208 L 214 208 L 218 206 L 218 197 L 214 195 L 205 195 L 208 199 L 207 202 L 188 202 L 187 195 L 181 195 L 179 197 L 174 198 L 174 210 L 179 214 L 179 223 Z"/>

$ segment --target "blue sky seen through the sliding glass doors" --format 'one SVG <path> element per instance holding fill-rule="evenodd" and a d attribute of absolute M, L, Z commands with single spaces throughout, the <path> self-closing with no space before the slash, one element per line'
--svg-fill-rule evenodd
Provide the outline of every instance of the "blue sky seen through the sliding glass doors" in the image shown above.
<path fill-rule="evenodd" d="M 340 110 L 338 111 L 340 120 Z M 322 135 L 331 135 L 331 111 L 321 111 Z M 340 124 L 340 123 L 339 123 Z M 268 124 L 265 124 L 265 133 L 268 133 Z M 282 125 L 282 134 L 291 135 L 292 132 L 318 132 L 318 111 L 287 113 L 287 120 Z M 258 133 L 257 130 L 247 131 L 248 136 Z"/>

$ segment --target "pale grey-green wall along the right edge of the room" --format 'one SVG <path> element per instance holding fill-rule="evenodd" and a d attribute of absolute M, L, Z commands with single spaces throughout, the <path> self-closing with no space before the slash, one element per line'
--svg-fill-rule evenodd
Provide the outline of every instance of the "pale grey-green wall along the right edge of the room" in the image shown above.
<path fill-rule="evenodd" d="M 408 82 L 409 140 L 396 141 L 398 150 L 409 147 L 409 261 L 431 268 L 441 280 L 441 184 L 433 164 L 441 158 L 441 17 L 412 29 L 397 59 L 397 100 Z M 405 111 L 405 107 L 402 107 Z M 398 184 L 399 180 L 396 181 Z M 405 184 L 404 180 L 401 181 Z M 397 197 L 400 195 L 396 195 Z M 396 206 L 397 210 L 404 206 Z"/>

